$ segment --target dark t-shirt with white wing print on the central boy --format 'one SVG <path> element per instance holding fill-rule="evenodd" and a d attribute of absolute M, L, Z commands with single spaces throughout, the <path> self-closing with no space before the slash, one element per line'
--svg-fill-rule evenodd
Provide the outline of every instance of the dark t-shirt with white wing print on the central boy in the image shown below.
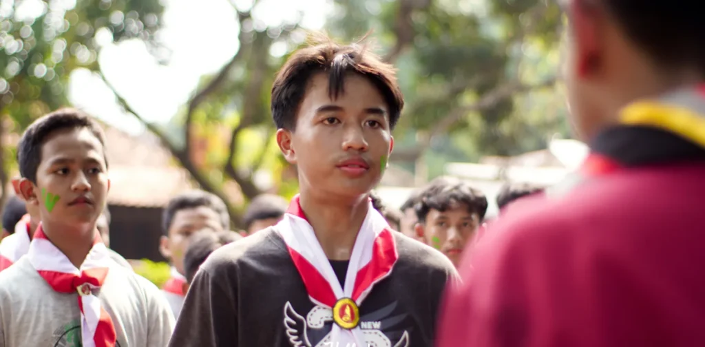
<path fill-rule="evenodd" d="M 360 329 L 374 340 L 370 346 L 432 346 L 443 288 L 458 274 L 441 252 L 394 237 L 398 260 L 360 305 Z M 348 262 L 331 264 L 342 285 Z M 321 343 L 334 324 L 321 311 L 286 243 L 269 228 L 223 246 L 202 265 L 169 346 L 338 347 Z"/>

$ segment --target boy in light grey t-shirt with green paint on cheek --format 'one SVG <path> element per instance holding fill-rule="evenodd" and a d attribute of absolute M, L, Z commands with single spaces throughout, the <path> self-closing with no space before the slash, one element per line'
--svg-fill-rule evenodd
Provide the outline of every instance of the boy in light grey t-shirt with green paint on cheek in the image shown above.
<path fill-rule="evenodd" d="M 102 128 L 55 111 L 25 130 L 18 162 L 41 224 L 27 255 L 0 273 L 0 347 L 166 346 L 166 300 L 110 259 L 96 228 L 110 188 Z"/>

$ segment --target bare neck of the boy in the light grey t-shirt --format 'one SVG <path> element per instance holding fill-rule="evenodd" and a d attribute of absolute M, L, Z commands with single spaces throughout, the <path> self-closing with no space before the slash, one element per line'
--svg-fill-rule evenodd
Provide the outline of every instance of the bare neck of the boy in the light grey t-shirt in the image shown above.
<path fill-rule="evenodd" d="M 95 225 L 90 228 L 42 223 L 42 229 L 49 241 L 59 248 L 77 269 L 80 269 L 88 252 L 93 248 L 93 241 L 98 232 Z"/>

